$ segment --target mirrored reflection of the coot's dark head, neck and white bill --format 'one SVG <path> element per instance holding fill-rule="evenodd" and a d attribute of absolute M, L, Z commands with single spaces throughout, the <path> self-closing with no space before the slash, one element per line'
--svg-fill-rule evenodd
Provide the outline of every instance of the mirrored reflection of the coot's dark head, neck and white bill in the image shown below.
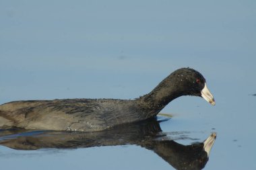
<path fill-rule="evenodd" d="M 183 145 L 174 140 L 158 140 L 146 145 L 175 169 L 203 169 L 205 167 L 216 133 L 211 134 L 205 142 Z"/>

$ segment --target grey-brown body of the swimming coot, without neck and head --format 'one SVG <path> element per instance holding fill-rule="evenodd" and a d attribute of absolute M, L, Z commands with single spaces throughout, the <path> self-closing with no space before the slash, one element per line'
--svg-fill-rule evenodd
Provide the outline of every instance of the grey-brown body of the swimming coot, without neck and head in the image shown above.
<path fill-rule="evenodd" d="M 0 105 L 0 127 L 93 132 L 141 119 L 135 100 L 55 99 Z"/>

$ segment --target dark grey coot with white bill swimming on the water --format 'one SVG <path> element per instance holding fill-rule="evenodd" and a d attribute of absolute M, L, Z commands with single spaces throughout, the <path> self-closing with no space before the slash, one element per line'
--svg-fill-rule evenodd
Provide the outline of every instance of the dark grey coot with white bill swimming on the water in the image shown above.
<path fill-rule="evenodd" d="M 203 76 L 178 69 L 150 93 L 136 99 L 54 99 L 11 101 L 0 105 L 1 128 L 94 132 L 156 116 L 182 95 L 201 96 L 212 105 L 214 97 Z"/>

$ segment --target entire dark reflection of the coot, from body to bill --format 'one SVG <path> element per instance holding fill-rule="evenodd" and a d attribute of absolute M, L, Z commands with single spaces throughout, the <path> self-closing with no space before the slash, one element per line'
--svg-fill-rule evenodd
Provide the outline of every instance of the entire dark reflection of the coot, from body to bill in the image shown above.
<path fill-rule="evenodd" d="M 216 134 L 213 133 L 204 142 L 187 146 L 179 144 L 169 140 L 168 136 L 161 132 L 160 125 L 154 118 L 100 132 L 5 130 L 0 132 L 0 136 L 1 145 L 22 150 L 136 144 L 154 151 L 175 169 L 202 169 L 216 140 Z M 184 136 L 182 138 L 184 139 Z"/>

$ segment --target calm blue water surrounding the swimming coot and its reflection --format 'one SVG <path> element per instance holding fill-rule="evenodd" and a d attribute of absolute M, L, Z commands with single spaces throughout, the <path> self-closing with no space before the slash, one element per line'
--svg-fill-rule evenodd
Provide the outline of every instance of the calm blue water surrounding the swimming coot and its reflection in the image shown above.
<path fill-rule="evenodd" d="M 0 4 L 0 103 L 132 99 L 180 67 L 200 71 L 216 99 L 180 97 L 162 110 L 172 118 L 109 134 L 0 131 L 2 169 L 174 169 L 152 138 L 189 145 L 212 132 L 205 169 L 256 169 L 255 1 Z"/>

